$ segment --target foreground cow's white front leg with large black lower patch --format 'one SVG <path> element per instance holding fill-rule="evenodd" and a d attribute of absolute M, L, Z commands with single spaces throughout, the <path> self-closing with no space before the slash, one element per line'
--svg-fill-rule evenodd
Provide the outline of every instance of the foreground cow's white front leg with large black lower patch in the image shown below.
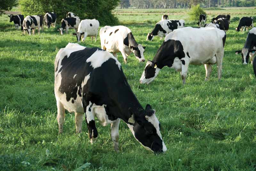
<path fill-rule="evenodd" d="M 93 104 L 90 101 L 88 104 L 83 103 L 89 137 L 91 139 L 91 143 L 93 144 L 96 141 L 96 138 L 98 137 L 98 131 L 95 125 L 94 112 L 92 109 L 92 105 Z"/>

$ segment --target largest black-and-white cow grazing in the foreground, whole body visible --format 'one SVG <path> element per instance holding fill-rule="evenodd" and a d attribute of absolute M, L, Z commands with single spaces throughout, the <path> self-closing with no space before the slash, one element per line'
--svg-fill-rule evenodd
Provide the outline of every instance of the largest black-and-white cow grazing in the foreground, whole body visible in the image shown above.
<path fill-rule="evenodd" d="M 96 116 L 103 126 L 111 124 L 111 138 L 118 151 L 118 127 L 122 119 L 133 136 L 153 152 L 167 150 L 156 111 L 140 105 L 123 73 L 121 64 L 108 51 L 68 43 L 55 59 L 54 92 L 59 133 L 63 132 L 65 109 L 75 113 L 76 132 L 85 114 L 91 143 L 98 137 Z"/>

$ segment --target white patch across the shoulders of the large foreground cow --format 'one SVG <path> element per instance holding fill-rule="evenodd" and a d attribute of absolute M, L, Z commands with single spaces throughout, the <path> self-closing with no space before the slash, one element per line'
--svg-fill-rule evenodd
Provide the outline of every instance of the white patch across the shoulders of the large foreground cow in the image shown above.
<path fill-rule="evenodd" d="M 110 58 L 116 61 L 116 65 L 118 66 L 119 70 L 121 70 L 121 64 L 111 53 L 107 51 L 97 50 L 86 60 L 86 62 L 91 62 L 91 66 L 93 67 L 93 69 L 95 69 L 100 67 L 104 62 L 106 62 Z"/>

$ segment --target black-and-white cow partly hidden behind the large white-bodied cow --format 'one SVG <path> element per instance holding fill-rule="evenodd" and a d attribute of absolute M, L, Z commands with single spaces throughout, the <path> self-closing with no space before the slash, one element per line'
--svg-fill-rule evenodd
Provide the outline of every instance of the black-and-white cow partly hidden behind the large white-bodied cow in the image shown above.
<path fill-rule="evenodd" d="M 152 41 L 154 36 L 158 35 L 160 39 L 164 36 L 171 33 L 173 30 L 177 28 L 183 28 L 185 26 L 185 21 L 183 19 L 173 20 L 173 19 L 165 19 L 156 23 L 156 26 L 153 28 L 151 33 L 148 33 L 147 39 Z"/>

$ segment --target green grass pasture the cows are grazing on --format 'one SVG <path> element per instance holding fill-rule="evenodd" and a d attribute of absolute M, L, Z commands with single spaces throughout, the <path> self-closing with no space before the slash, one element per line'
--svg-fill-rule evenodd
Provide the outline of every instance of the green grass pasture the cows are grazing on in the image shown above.
<path fill-rule="evenodd" d="M 146 46 L 145 58 L 152 60 L 162 41 L 146 41 L 147 33 L 165 12 L 171 19 L 188 21 L 187 9 L 114 11 L 121 24 L 129 27 L 138 43 Z M 206 9 L 213 15 L 256 16 L 255 8 Z M 153 20 L 151 22 L 150 20 Z M 189 66 L 187 83 L 180 73 L 164 67 L 149 85 L 139 83 L 145 63 L 132 54 L 121 62 L 133 92 L 141 105 L 150 104 L 162 125 L 168 151 L 154 155 L 145 150 L 121 121 L 120 152 L 113 149 L 110 125 L 100 126 L 93 145 L 84 121 L 76 134 L 74 113 L 67 113 L 64 133 L 58 135 L 57 107 L 54 96 L 54 58 L 60 48 L 76 37 L 60 35 L 54 28 L 42 34 L 23 35 L 16 31 L 7 15 L 0 17 L 0 170 L 255 170 L 256 115 L 255 76 L 252 65 L 242 65 L 241 50 L 248 32 L 236 33 L 238 22 L 227 32 L 222 79 L 216 65 L 209 82 L 204 82 L 204 66 Z M 86 39 L 81 45 L 100 47 Z M 97 119 L 96 119 L 97 120 Z"/>

